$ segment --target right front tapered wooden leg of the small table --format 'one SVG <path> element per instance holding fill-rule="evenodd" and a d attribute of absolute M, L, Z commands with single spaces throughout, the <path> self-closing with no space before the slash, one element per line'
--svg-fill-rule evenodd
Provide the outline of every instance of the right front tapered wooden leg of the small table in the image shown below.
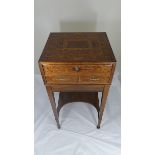
<path fill-rule="evenodd" d="M 109 87 L 110 87 L 110 85 L 105 85 L 104 94 L 102 92 L 102 100 L 101 100 L 99 118 L 98 118 L 98 125 L 97 125 L 98 129 L 100 128 L 100 124 L 102 121 L 102 116 L 103 116 L 103 112 L 104 112 L 104 108 L 105 108 L 105 104 L 106 104 L 106 100 L 107 100 L 107 96 L 108 96 L 108 92 L 109 92 Z"/>

